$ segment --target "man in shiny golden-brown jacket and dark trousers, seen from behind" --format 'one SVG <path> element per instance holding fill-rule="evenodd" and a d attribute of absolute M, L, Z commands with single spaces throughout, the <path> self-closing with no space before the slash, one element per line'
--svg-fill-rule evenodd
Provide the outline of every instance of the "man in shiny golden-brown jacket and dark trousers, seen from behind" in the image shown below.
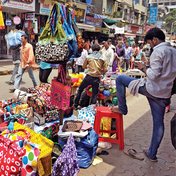
<path fill-rule="evenodd" d="M 83 68 L 87 69 L 87 74 L 78 89 L 78 93 L 74 102 L 75 109 L 77 109 L 79 106 L 82 92 L 89 85 L 92 86 L 91 104 L 96 104 L 100 78 L 107 71 L 107 64 L 103 60 L 102 54 L 100 52 L 100 46 L 98 44 L 93 44 L 92 51 L 93 52 L 87 56 L 83 64 Z"/>

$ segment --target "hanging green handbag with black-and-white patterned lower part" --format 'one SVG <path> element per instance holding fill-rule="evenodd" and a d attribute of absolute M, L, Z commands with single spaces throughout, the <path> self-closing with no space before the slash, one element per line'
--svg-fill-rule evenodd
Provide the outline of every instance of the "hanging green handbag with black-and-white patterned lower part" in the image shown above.
<path fill-rule="evenodd" d="M 59 63 L 68 60 L 67 37 L 61 23 L 59 3 L 52 7 L 35 52 L 36 58 L 44 62 Z"/>

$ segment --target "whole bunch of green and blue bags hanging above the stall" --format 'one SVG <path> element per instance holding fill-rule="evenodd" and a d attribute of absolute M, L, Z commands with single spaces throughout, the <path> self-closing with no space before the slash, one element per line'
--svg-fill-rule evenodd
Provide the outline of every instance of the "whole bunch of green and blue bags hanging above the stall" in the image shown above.
<path fill-rule="evenodd" d="M 36 59 L 49 63 L 60 63 L 75 57 L 80 44 L 78 45 L 77 42 L 74 21 L 72 8 L 55 3 L 39 37 Z"/>

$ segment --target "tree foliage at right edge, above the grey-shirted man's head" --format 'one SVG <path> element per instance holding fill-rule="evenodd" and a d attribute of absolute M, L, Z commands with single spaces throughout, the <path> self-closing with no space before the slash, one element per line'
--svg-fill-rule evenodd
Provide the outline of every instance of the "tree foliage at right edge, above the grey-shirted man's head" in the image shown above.
<path fill-rule="evenodd" d="M 168 31 L 169 33 L 171 31 L 176 32 L 176 9 L 171 10 L 170 13 L 166 15 L 164 21 L 165 21 L 164 27 L 166 31 Z M 173 28 L 171 29 L 171 27 Z"/>

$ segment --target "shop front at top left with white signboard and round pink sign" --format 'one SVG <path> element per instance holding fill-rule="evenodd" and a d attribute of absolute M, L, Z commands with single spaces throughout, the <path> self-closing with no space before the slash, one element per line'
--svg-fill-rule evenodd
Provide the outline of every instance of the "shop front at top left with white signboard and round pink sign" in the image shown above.
<path fill-rule="evenodd" d="M 2 5 L 5 29 L 0 30 L 0 59 L 11 58 L 10 50 L 7 47 L 5 35 L 10 32 L 16 25 L 23 27 L 27 12 L 35 12 L 35 1 L 19 2 L 8 1 Z"/>

